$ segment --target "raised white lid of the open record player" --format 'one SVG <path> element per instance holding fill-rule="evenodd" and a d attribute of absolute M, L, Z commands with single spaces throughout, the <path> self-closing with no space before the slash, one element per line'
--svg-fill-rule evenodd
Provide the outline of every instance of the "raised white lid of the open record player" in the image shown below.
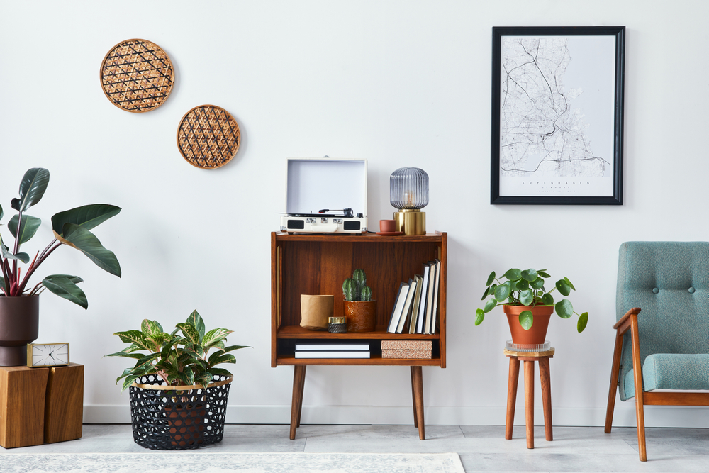
<path fill-rule="evenodd" d="M 288 158 L 286 213 L 346 207 L 367 216 L 367 160 Z"/>

